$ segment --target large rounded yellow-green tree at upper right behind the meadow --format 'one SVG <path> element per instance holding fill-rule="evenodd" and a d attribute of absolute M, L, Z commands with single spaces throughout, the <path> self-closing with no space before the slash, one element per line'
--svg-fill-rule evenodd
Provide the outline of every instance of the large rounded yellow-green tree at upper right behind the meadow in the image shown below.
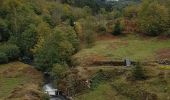
<path fill-rule="evenodd" d="M 156 1 L 145 0 L 139 10 L 138 21 L 143 33 L 157 36 L 167 30 L 168 9 Z"/>

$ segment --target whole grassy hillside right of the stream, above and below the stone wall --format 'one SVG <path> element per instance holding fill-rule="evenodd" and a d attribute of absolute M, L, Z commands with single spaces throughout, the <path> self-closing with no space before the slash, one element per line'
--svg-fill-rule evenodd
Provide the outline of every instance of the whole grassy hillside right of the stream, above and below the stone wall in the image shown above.
<path fill-rule="evenodd" d="M 83 49 L 73 56 L 78 74 L 91 78 L 99 70 L 113 71 L 114 79 L 96 83 L 94 89 L 75 96 L 76 100 L 169 100 L 170 66 L 153 61 L 170 60 L 170 40 L 146 38 L 134 35 L 125 37 L 101 38 L 95 45 Z M 129 58 L 133 61 L 147 61 L 144 66 L 148 79 L 132 81 L 131 67 L 95 66 L 96 61 L 117 61 Z M 117 74 L 118 73 L 118 74 Z M 117 74 L 117 75 L 116 75 Z M 101 82 L 100 82 L 101 81 Z M 136 98 L 136 99 L 135 99 Z M 140 99 L 137 99 L 140 98 Z"/>

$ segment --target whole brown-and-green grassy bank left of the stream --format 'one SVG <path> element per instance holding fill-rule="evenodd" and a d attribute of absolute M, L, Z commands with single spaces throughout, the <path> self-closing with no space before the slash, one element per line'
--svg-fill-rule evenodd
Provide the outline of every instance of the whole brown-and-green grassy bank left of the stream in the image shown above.
<path fill-rule="evenodd" d="M 0 65 L 0 100 L 41 100 L 43 75 L 22 62 Z"/>

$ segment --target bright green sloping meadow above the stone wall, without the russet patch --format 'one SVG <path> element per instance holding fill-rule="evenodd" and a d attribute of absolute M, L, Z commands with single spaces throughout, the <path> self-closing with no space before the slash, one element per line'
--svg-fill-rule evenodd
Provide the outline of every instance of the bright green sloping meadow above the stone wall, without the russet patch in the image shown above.
<path fill-rule="evenodd" d="M 122 60 L 129 58 L 135 61 L 155 60 L 157 52 L 161 49 L 170 48 L 170 40 L 157 38 L 139 38 L 138 36 L 127 36 L 116 39 L 100 40 L 92 48 L 83 49 L 75 57 L 86 58 L 88 56 L 100 55 L 111 60 Z"/>

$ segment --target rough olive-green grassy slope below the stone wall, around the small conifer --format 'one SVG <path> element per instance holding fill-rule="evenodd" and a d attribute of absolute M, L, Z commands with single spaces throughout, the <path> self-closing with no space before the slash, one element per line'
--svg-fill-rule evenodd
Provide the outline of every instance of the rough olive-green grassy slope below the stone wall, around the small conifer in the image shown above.
<path fill-rule="evenodd" d="M 123 70 L 120 67 L 121 69 Z M 154 100 L 168 100 L 170 98 L 170 70 L 162 70 L 159 65 L 145 66 L 145 69 L 147 70 L 145 74 L 148 76 L 146 80 L 128 80 L 127 78 L 131 76 L 131 70 L 128 69 L 125 73 L 114 76 L 113 80 L 102 81 L 96 88 L 77 95 L 75 100 L 141 100 L 144 97 L 142 94 L 147 94 L 145 98 L 153 96 L 157 98 Z M 165 73 L 165 77 L 160 76 L 160 73 Z"/>

